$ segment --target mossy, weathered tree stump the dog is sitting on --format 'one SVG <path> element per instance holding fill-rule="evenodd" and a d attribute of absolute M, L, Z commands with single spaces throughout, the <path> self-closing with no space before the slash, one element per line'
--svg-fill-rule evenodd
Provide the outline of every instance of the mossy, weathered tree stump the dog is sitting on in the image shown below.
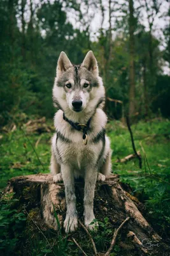
<path fill-rule="evenodd" d="M 114 232 L 125 218 L 130 217 L 120 231 L 121 237 L 118 239 L 118 246 L 127 253 L 124 255 L 170 255 L 169 246 L 162 241 L 139 211 L 142 204 L 134 200 L 124 187 L 119 182 L 118 175 L 111 175 L 104 182 L 97 182 L 94 199 L 96 219 L 103 221 L 108 217 Z M 76 181 L 75 188 L 78 218 L 83 222 L 83 180 Z M 28 214 L 36 209 L 35 214 L 31 216 L 40 228 L 57 229 L 57 221 L 53 214 L 54 205 L 62 227 L 66 215 L 64 184 L 53 183 L 52 175 L 14 177 L 8 181 L 8 186 L 4 189 L 5 194 L 11 192 L 19 199 L 17 207 L 25 205 Z M 84 230 L 79 227 L 76 232 Z"/>

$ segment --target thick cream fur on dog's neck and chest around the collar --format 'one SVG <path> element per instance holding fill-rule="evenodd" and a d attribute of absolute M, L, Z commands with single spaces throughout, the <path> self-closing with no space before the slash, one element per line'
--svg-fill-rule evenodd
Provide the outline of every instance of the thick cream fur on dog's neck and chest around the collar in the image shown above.
<path fill-rule="evenodd" d="M 76 172 L 83 172 L 88 164 L 96 164 L 99 154 L 103 147 L 101 140 L 96 141 L 97 134 L 103 131 L 106 125 L 106 115 L 101 109 L 97 109 L 90 123 L 90 131 L 88 132 L 88 143 L 83 145 L 83 133 L 76 131 L 69 123 L 63 120 L 62 111 L 58 111 L 54 118 L 55 129 L 57 134 L 53 138 L 56 143 L 55 155 L 58 161 L 72 166 Z M 54 145 L 53 145 L 54 146 Z M 53 147 L 54 148 L 54 147 Z"/>

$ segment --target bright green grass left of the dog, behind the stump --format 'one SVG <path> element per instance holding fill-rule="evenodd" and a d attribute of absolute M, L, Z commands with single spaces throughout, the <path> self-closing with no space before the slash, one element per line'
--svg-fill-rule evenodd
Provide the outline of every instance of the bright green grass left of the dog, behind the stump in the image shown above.
<path fill-rule="evenodd" d="M 49 172 L 50 138 L 52 134 L 27 134 L 44 168 L 39 163 L 31 144 L 22 131 L 17 130 L 2 136 L 0 145 L 0 188 L 4 188 L 6 181 L 11 177 Z M 36 148 L 36 141 L 38 141 L 39 136 L 41 136 L 41 140 Z"/>

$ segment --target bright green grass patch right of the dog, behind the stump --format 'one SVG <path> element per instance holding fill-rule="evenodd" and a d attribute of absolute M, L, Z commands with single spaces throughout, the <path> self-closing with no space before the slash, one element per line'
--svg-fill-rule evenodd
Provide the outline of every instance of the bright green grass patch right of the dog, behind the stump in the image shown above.
<path fill-rule="evenodd" d="M 113 172 L 120 174 L 124 182 L 131 186 L 136 184 L 135 176 L 150 172 L 160 174 L 162 179 L 170 173 L 170 122 L 169 120 L 155 120 L 153 122 L 139 122 L 132 125 L 136 150 L 140 150 L 143 159 L 143 168 L 139 169 L 138 159 L 127 163 L 115 163 L 118 158 L 123 158 L 134 153 L 127 127 L 120 122 L 111 122 L 108 127 L 108 135 L 111 139 Z M 146 160 L 145 160 L 146 155 Z M 147 164 L 148 161 L 148 164 Z M 168 180 L 165 180 L 168 181 Z"/>

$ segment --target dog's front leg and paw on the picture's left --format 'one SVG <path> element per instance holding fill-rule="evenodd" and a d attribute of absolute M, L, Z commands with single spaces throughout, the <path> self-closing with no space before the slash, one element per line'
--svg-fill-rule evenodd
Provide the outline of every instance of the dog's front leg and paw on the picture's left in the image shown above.
<path fill-rule="evenodd" d="M 64 181 L 66 194 L 66 219 L 64 221 L 64 229 L 67 232 L 73 232 L 78 227 L 78 216 L 76 211 L 76 196 L 74 189 L 74 174 L 71 168 L 65 164 L 61 165 L 62 178 Z"/>

